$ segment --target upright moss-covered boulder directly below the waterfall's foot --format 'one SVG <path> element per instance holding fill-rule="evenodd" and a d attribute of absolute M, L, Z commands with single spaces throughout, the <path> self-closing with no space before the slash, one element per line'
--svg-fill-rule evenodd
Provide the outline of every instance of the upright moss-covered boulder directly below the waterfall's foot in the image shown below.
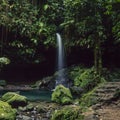
<path fill-rule="evenodd" d="M 70 104 L 72 103 L 72 99 L 70 89 L 63 85 L 58 85 L 52 93 L 52 101 L 60 104 Z"/>

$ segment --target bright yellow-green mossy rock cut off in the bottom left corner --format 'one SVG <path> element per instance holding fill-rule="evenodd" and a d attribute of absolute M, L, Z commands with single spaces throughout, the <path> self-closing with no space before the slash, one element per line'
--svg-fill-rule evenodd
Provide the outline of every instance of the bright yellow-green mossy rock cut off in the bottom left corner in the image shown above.
<path fill-rule="evenodd" d="M 0 101 L 0 120 L 15 120 L 16 110 L 7 102 Z"/>

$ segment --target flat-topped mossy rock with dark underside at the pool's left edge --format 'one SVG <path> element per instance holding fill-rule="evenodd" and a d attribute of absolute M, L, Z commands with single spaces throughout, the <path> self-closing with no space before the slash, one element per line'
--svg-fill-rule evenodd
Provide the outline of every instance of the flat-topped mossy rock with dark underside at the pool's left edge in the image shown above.
<path fill-rule="evenodd" d="M 1 98 L 2 101 L 9 103 L 12 107 L 26 106 L 27 98 L 15 92 L 7 92 Z"/>

